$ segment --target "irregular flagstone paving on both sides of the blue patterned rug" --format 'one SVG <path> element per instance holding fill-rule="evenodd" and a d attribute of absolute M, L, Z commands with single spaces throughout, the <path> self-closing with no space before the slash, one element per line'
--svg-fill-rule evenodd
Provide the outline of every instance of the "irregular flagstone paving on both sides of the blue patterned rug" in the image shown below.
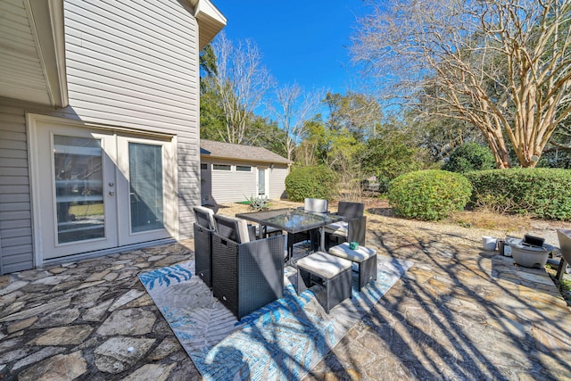
<path fill-rule="evenodd" d="M 571 313 L 544 270 L 474 243 L 385 230 L 368 232 L 368 245 L 415 264 L 308 379 L 571 377 Z M 137 278 L 192 259 L 193 247 L 0 277 L 0 379 L 200 379 Z"/>

